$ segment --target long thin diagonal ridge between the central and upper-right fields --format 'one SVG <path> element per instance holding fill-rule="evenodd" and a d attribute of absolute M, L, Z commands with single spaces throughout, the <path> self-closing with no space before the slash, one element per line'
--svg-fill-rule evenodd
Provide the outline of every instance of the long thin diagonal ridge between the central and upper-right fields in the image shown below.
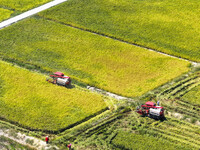
<path fill-rule="evenodd" d="M 38 16 L 39 16 L 39 15 L 38 15 Z M 44 18 L 44 19 L 49 20 L 49 21 L 53 21 L 53 22 L 60 23 L 60 24 L 62 24 L 62 25 L 68 26 L 68 27 L 72 27 L 72 28 L 79 29 L 79 30 L 82 30 L 82 31 L 90 32 L 90 33 L 93 33 L 93 34 L 96 34 L 96 35 L 99 35 L 99 36 L 103 36 L 103 37 L 106 37 L 106 38 L 110 38 L 110 39 L 113 39 L 113 40 L 116 40 L 116 41 L 120 41 L 120 42 L 123 42 L 123 43 L 126 43 L 126 44 L 131 44 L 131 45 L 136 46 L 136 47 L 144 48 L 144 49 L 146 49 L 146 50 L 153 51 L 153 52 L 156 52 L 156 53 L 165 55 L 165 56 L 169 56 L 169 57 L 172 57 L 172 58 L 177 58 L 177 59 L 180 59 L 180 60 L 188 61 L 188 62 L 190 62 L 194 67 L 200 66 L 200 62 L 196 62 L 196 61 L 192 61 L 192 60 L 189 60 L 189 59 L 186 59 L 186 58 L 182 58 L 182 57 L 170 55 L 170 54 L 167 54 L 167 53 L 158 51 L 158 50 L 156 50 L 156 49 L 152 49 L 152 48 L 149 48 L 149 47 L 146 47 L 146 46 L 143 46 L 143 45 L 139 45 L 139 44 L 136 44 L 136 43 L 133 43 L 133 42 L 130 42 L 130 41 L 121 39 L 121 38 L 119 38 L 119 37 L 115 37 L 114 35 L 108 35 L 108 34 L 106 34 L 106 33 L 100 32 L 100 31 L 96 31 L 96 32 L 95 32 L 95 31 L 93 31 L 93 30 L 91 30 L 91 29 L 88 29 L 88 28 L 75 26 L 75 25 L 72 25 L 72 24 L 64 23 L 64 22 L 62 22 L 62 21 L 50 19 L 50 18 L 47 18 L 47 17 L 44 17 L 44 16 L 39 16 L 39 17 Z"/>

